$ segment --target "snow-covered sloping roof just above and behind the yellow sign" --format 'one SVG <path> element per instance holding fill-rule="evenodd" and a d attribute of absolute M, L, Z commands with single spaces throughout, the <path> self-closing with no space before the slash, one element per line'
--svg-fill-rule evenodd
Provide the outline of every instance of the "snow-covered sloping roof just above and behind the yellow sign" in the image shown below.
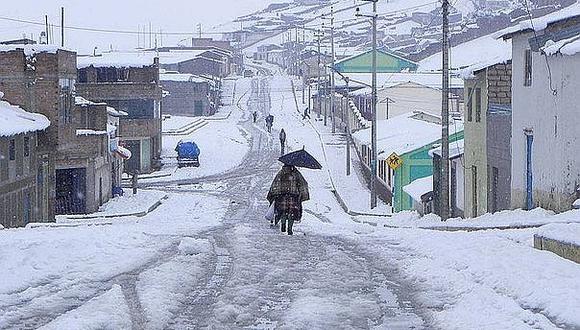
<path fill-rule="evenodd" d="M 451 118 L 449 134 L 463 131 L 463 121 Z M 384 160 L 393 152 L 399 156 L 441 139 L 441 119 L 435 115 L 414 111 L 377 122 L 378 158 Z M 370 129 L 353 135 L 354 139 L 370 145 Z"/>

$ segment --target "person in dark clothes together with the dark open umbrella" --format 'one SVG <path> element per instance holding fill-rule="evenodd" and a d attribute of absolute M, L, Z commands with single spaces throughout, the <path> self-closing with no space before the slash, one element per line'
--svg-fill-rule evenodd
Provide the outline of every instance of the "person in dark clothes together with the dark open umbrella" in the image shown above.
<path fill-rule="evenodd" d="M 321 169 L 320 163 L 304 149 L 280 157 L 284 166 L 272 181 L 267 199 L 274 203 L 275 224 L 281 222 L 281 231 L 293 234 L 294 222 L 302 218 L 302 203 L 310 199 L 308 182 L 296 167 Z"/>

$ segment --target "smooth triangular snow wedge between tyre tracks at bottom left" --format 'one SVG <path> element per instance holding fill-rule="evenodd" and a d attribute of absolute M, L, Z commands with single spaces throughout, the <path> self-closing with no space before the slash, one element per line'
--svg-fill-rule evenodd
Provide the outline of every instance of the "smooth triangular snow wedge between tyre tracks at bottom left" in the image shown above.
<path fill-rule="evenodd" d="M 104 294 L 95 297 L 72 311 L 69 311 L 42 330 L 60 329 L 129 329 L 131 317 L 121 286 L 114 284 Z"/>

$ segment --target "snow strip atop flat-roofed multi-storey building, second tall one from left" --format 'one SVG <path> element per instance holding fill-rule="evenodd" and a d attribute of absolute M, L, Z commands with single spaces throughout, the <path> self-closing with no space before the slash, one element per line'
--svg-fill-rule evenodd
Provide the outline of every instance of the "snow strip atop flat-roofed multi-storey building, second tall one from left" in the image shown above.
<path fill-rule="evenodd" d="M 77 68 L 142 68 L 153 65 L 155 54 L 144 52 L 111 52 L 98 56 L 78 56 Z"/>

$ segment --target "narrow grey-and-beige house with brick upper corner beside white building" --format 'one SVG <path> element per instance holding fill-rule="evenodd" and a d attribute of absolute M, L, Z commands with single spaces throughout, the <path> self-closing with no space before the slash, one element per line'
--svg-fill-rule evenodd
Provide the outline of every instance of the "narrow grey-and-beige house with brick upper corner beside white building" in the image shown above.
<path fill-rule="evenodd" d="M 509 59 L 495 59 L 467 68 L 463 75 L 465 216 L 477 217 L 511 204 L 512 65 Z"/>

